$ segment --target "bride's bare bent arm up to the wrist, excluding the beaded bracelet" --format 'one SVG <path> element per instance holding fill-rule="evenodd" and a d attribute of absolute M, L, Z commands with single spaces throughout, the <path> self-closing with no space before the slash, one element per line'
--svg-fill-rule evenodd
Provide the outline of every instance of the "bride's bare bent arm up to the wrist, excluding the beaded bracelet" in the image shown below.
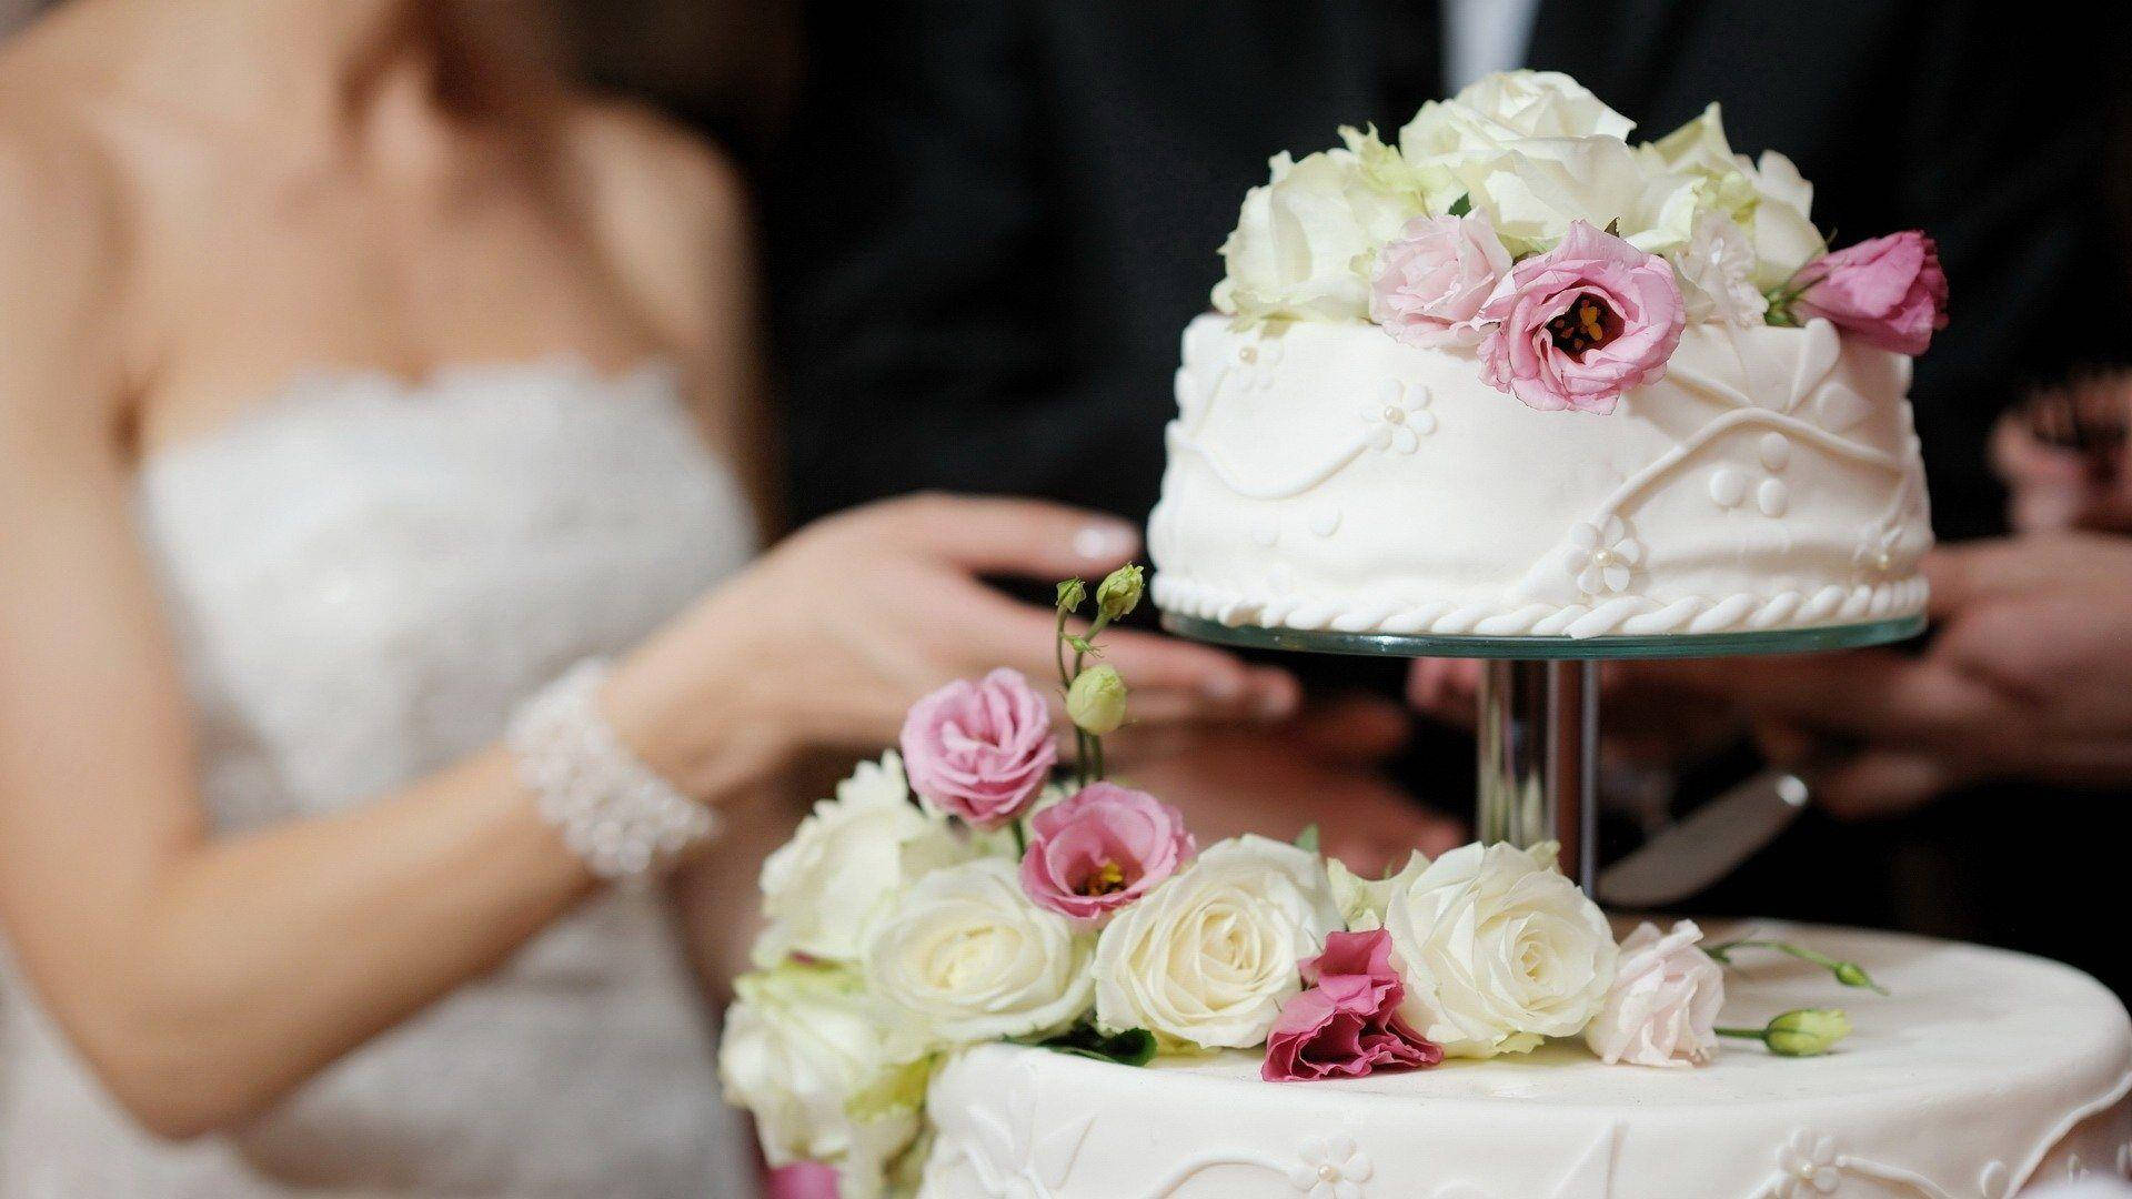
<path fill-rule="evenodd" d="M 130 523 L 107 258 L 92 222 L 6 207 L 0 922 L 109 1090 L 158 1133 L 203 1133 L 503 962 L 595 881 L 497 749 L 348 815 L 209 836 Z M 625 738 L 712 804 L 782 745 L 723 678 L 733 640 L 669 634 L 608 691 Z"/>

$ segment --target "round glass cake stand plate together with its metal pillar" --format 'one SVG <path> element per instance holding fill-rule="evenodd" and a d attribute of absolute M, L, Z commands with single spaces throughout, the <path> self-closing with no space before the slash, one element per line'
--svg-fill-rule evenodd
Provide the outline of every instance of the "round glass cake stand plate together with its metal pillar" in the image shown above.
<path fill-rule="evenodd" d="M 1224 625 L 1164 614 L 1168 632 L 1239 649 L 1345 653 L 1367 657 L 1488 659 L 1480 681 L 1480 787 L 1475 832 L 1482 841 L 1561 845 L 1563 873 L 1590 890 L 1597 877 L 1599 817 L 1599 670 L 1597 661 L 1654 657 L 1733 657 L 1863 649 L 1925 632 L 1925 617 L 1859 625 L 1744 634 L 1661 634 L 1605 638 L 1488 638 L 1428 634 L 1337 634 Z"/>

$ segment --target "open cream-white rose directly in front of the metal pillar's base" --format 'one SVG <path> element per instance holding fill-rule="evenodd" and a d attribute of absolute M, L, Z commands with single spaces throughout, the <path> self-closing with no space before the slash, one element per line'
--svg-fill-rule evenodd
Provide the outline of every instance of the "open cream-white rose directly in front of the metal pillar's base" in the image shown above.
<path fill-rule="evenodd" d="M 1452 849 L 1392 896 L 1384 926 L 1405 969 L 1401 1013 L 1450 1056 L 1573 1037 L 1614 981 L 1614 934 L 1552 847 Z"/>

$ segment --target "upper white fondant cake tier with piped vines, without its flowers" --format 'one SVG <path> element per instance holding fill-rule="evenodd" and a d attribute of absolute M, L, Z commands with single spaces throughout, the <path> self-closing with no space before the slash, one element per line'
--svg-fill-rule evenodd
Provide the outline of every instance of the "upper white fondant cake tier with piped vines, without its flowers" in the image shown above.
<path fill-rule="evenodd" d="M 1149 521 L 1156 602 L 1228 625 L 1650 636 L 1921 612 L 1910 361 L 1825 320 L 1689 324 L 1612 414 L 1473 350 L 1202 316 Z"/>

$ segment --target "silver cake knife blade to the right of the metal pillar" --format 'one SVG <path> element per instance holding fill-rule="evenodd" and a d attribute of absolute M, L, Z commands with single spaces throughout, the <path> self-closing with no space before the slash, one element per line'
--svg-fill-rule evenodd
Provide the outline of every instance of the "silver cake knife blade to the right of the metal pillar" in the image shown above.
<path fill-rule="evenodd" d="M 1808 800 L 1806 779 L 1763 770 L 1599 870 L 1599 902 L 1648 909 L 1689 898 L 1776 841 Z"/>

